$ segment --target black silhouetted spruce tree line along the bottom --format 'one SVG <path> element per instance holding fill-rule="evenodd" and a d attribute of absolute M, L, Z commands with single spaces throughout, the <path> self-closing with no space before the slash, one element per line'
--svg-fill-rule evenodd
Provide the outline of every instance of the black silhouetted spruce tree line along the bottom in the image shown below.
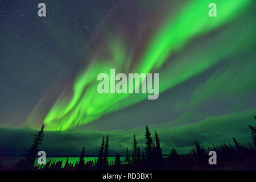
<path fill-rule="evenodd" d="M 253 115 L 256 119 L 255 115 Z M 35 165 L 35 159 L 38 153 L 38 147 L 43 142 L 44 125 L 41 130 L 34 136 L 34 143 L 29 148 L 24 159 L 19 160 L 18 163 L 10 166 L 0 165 L 1 170 L 182 170 L 182 169 L 207 169 L 208 152 L 216 151 L 218 164 L 232 164 L 230 162 L 241 163 L 245 159 L 256 158 L 256 129 L 255 126 L 249 125 L 251 131 L 251 143 L 247 143 L 249 147 L 243 146 L 236 138 L 233 139 L 233 145 L 228 142 L 220 142 L 218 145 L 212 147 L 202 147 L 199 142 L 195 140 L 194 146 L 187 155 L 178 155 L 176 149 L 173 147 L 170 155 L 166 158 L 162 155 L 162 148 L 160 146 L 160 139 L 155 131 L 154 140 L 151 137 L 150 130 L 146 126 L 144 135 L 145 148 L 141 150 L 138 146 L 135 134 L 133 135 L 133 148 L 131 154 L 129 148 L 126 147 L 125 159 L 122 161 L 117 152 L 115 161 L 110 163 L 109 157 L 109 135 L 106 138 L 103 136 L 101 140 L 100 150 L 98 152 L 97 160 L 89 160 L 85 162 L 85 147 L 82 147 L 79 160 L 75 163 L 69 162 L 68 158 L 63 166 L 63 162 L 51 162 L 49 160 L 45 165 Z"/>

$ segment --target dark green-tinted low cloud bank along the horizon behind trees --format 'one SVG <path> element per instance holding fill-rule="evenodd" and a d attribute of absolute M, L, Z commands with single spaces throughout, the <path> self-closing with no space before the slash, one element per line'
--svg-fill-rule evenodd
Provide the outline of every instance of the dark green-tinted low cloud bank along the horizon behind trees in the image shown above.
<path fill-rule="evenodd" d="M 251 142 L 248 125 L 255 125 L 254 109 L 239 113 L 230 113 L 218 117 L 208 117 L 197 123 L 172 126 L 172 122 L 163 125 L 150 125 L 151 136 L 156 130 L 163 154 L 169 154 L 175 147 L 180 154 L 187 154 L 195 139 L 203 146 L 212 146 L 220 142 L 232 142 L 232 137 L 243 144 Z M 31 129 L 0 129 L 0 154 L 23 154 L 32 144 L 37 133 Z M 144 149 L 144 128 L 112 131 L 45 131 L 45 137 L 40 150 L 47 154 L 70 155 L 80 154 L 83 146 L 87 155 L 97 155 L 103 135 L 109 134 L 110 155 L 120 152 L 125 154 L 126 147 L 132 148 L 133 134 L 136 135 L 139 147 Z"/>

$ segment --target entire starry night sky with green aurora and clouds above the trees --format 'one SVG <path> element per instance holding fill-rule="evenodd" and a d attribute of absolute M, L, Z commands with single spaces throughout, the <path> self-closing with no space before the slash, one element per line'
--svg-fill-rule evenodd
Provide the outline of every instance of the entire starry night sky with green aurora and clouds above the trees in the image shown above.
<path fill-rule="evenodd" d="M 38 4 L 46 3 L 46 17 Z M 209 17 L 209 3 L 217 17 Z M 255 123 L 255 7 L 251 0 L 0 0 L 0 154 L 22 154 L 43 123 L 47 154 L 144 148 L 164 154 L 250 141 Z M 159 98 L 99 94 L 97 75 L 159 73 Z M 4 138 L 4 140 L 3 140 Z"/>

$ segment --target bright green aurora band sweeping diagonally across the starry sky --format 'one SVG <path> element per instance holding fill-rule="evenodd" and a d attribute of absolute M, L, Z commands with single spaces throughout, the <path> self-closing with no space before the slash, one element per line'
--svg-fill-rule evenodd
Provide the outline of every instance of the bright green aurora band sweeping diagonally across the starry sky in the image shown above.
<path fill-rule="evenodd" d="M 61 94 L 47 113 L 44 118 L 46 129 L 64 131 L 85 125 L 102 115 L 147 99 L 147 94 L 99 94 L 97 76 L 99 73 L 110 75 L 110 68 L 115 68 L 116 73 L 159 73 L 159 93 L 162 93 L 206 71 L 225 57 L 252 47 L 255 43 L 252 39 L 254 23 L 236 22 L 236 19 L 253 1 L 216 0 L 217 17 L 213 18 L 208 16 L 211 2 L 184 2 L 179 11 L 168 15 L 156 27 L 139 57 L 134 58 L 135 51 L 125 47 L 122 36 L 108 35 L 104 49 L 110 56 L 95 53 L 88 67 L 76 76 L 72 93 L 69 96 Z M 234 29 L 233 23 L 243 28 Z M 203 40 L 197 47 L 189 47 L 192 41 L 213 32 L 219 39 L 218 44 Z M 229 34 L 237 34 L 237 39 Z M 185 54 L 179 53 L 181 50 Z M 171 60 L 172 55 L 176 55 L 175 61 Z"/>

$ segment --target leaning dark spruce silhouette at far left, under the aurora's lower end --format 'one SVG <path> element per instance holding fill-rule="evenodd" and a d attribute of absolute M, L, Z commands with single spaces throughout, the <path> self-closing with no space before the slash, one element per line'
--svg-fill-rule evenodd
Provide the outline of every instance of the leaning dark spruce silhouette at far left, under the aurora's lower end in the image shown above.
<path fill-rule="evenodd" d="M 42 144 L 44 138 L 44 125 L 41 127 L 41 130 L 38 132 L 38 134 L 34 137 L 34 143 L 30 147 L 30 149 L 27 151 L 26 160 L 24 167 L 25 169 L 32 169 L 34 167 L 35 158 L 37 156 L 38 152 L 38 146 L 39 144 Z"/>

